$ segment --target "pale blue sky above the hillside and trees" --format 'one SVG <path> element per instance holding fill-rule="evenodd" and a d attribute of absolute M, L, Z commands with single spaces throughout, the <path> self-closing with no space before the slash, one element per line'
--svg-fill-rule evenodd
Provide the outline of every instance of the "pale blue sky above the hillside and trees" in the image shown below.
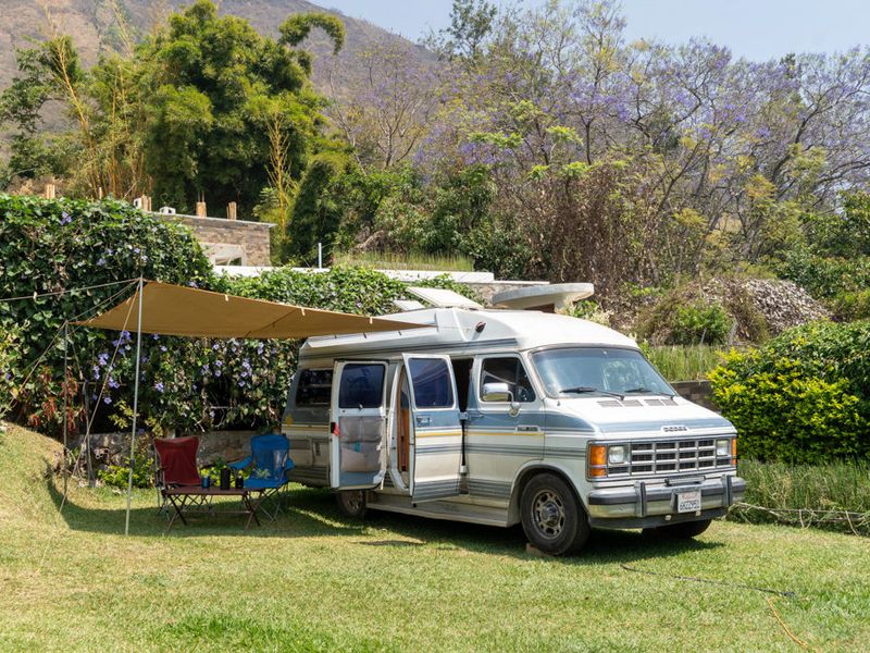
<path fill-rule="evenodd" d="M 451 0 L 313 0 L 418 40 L 449 24 Z M 492 1 L 492 0 L 490 0 Z M 520 0 L 533 5 L 543 0 Z M 496 0 L 496 4 L 514 1 Z M 754 60 L 870 44 L 870 0 L 622 0 L 629 40 L 706 36 Z"/>

